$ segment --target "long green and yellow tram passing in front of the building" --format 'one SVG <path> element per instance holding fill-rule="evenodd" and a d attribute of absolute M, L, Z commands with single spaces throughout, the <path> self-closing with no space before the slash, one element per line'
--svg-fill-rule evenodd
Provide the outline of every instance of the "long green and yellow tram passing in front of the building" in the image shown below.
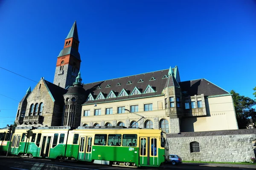
<path fill-rule="evenodd" d="M 2 131 L 0 137 L 3 133 L 6 138 L 7 133 Z M 19 127 L 12 135 L 9 154 L 114 166 L 158 167 L 165 161 L 165 141 L 166 133 L 154 129 Z M 7 137 L 2 141 L 2 151 L 7 151 L 8 145 Z"/>

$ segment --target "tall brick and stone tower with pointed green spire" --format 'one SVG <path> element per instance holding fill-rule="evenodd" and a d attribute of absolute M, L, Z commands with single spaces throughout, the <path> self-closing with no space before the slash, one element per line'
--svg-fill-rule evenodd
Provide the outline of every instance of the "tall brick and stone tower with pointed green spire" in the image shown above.
<path fill-rule="evenodd" d="M 76 81 L 81 64 L 78 47 L 79 39 L 75 21 L 65 39 L 64 48 L 57 57 L 53 84 L 67 88 Z"/>

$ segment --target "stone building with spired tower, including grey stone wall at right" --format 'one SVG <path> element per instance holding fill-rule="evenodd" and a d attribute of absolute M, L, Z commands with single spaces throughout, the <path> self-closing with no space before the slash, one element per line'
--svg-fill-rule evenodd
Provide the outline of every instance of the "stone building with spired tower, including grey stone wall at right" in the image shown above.
<path fill-rule="evenodd" d="M 205 78 L 181 81 L 177 66 L 82 84 L 78 49 L 75 21 L 57 57 L 53 84 L 41 78 L 27 90 L 17 109 L 18 126 L 161 128 L 168 133 L 169 153 L 184 160 L 253 156 L 255 129 L 238 130 L 226 90 Z"/>

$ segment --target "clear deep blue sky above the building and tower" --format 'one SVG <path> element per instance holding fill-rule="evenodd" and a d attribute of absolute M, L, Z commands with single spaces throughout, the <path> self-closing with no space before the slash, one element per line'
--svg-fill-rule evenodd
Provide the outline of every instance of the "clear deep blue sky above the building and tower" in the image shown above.
<path fill-rule="evenodd" d="M 181 81 L 206 78 L 255 99 L 253 0 L 0 0 L 0 127 L 34 81 L 53 82 L 75 20 L 84 83 L 177 65 Z"/>

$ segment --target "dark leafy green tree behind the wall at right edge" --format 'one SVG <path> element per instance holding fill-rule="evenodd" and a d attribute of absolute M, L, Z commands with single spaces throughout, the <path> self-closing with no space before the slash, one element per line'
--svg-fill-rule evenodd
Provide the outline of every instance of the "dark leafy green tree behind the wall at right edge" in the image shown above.
<path fill-rule="evenodd" d="M 252 119 L 253 123 L 256 123 L 256 109 L 253 108 L 256 105 L 256 101 L 239 95 L 235 90 L 231 90 L 230 93 L 232 94 L 239 129 L 246 129 L 249 118 Z"/>

